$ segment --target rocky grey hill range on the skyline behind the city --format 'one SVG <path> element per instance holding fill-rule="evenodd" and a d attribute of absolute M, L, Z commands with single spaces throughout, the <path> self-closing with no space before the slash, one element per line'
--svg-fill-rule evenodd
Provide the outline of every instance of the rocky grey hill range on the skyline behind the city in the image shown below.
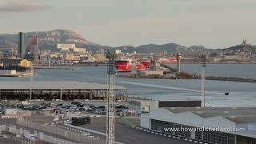
<path fill-rule="evenodd" d="M 50 30 L 50 31 L 38 31 L 28 32 L 26 35 L 38 34 L 39 49 L 40 50 L 56 50 L 58 43 L 74 43 L 77 47 L 86 47 L 86 50 L 93 52 L 101 49 L 106 50 L 117 50 L 120 49 L 125 53 L 132 53 L 137 51 L 138 53 L 150 54 L 163 52 L 166 50 L 167 53 L 187 52 L 195 50 L 206 50 L 203 46 L 181 46 L 175 43 L 167 43 L 164 45 L 148 44 L 142 46 L 101 46 L 94 42 L 89 42 L 85 38 L 82 38 L 80 34 L 75 33 L 72 30 Z M 17 34 L 0 34 L 0 48 L 17 47 Z"/>

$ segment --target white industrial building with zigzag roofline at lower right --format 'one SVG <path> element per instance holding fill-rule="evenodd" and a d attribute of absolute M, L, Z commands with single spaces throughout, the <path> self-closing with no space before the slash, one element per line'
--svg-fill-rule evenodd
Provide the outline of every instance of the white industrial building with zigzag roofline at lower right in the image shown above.
<path fill-rule="evenodd" d="M 255 111 L 255 107 L 152 108 L 141 115 L 141 127 L 203 143 L 255 144 Z"/>

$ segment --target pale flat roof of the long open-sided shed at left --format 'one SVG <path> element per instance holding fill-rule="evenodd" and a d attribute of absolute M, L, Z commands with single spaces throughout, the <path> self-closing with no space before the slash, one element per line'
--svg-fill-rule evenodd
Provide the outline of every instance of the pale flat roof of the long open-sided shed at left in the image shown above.
<path fill-rule="evenodd" d="M 0 90 L 106 90 L 107 85 L 75 81 L 1 81 Z M 124 86 L 115 86 L 117 90 L 127 90 Z"/>

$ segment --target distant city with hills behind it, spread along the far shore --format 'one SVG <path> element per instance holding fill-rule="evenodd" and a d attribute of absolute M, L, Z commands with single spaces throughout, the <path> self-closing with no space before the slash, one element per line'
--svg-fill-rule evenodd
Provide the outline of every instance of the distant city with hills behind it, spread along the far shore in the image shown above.
<path fill-rule="evenodd" d="M 202 55 L 206 56 L 206 63 L 256 63 L 256 48 L 246 39 L 230 48 L 206 49 L 203 46 L 184 47 L 174 43 L 138 47 L 100 46 L 70 30 L 54 30 L 45 34 L 19 32 L 12 39 L 6 37 L 5 40 L 4 35 L 0 38 L 3 39 L 0 46 L 6 46 L 0 48 L 2 75 L 30 76 L 32 65 L 35 68 L 106 65 L 106 50 L 117 55 L 118 71 L 132 71 L 132 63 L 137 71 L 145 71 L 152 66 L 156 70 L 158 63 L 159 66 L 178 63 L 177 54 L 181 56 L 180 63 L 201 63 Z M 17 42 L 16 45 L 14 42 Z"/>

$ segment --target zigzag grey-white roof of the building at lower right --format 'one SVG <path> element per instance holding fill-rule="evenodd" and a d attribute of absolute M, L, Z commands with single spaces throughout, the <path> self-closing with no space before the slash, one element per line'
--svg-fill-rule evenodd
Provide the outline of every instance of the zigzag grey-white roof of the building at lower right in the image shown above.
<path fill-rule="evenodd" d="M 158 108 L 150 111 L 149 118 L 186 126 L 212 128 L 244 128 L 245 131 L 223 131 L 256 138 L 256 107 L 190 107 Z"/>

